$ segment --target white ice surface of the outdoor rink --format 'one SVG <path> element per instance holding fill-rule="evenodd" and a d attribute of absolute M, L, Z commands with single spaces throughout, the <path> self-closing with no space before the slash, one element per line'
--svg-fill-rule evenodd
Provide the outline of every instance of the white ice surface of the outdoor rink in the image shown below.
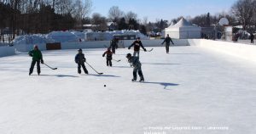
<path fill-rule="evenodd" d="M 149 47 L 148 47 L 149 49 Z M 104 49 L 105 50 L 105 49 Z M 201 47 L 141 52 L 144 83 L 131 82 L 127 49 L 113 67 L 84 49 L 104 75 L 77 74 L 77 50 L 43 52 L 42 75 L 26 54 L 0 59 L 1 134 L 254 134 L 256 64 Z M 103 87 L 107 85 L 107 87 Z"/>

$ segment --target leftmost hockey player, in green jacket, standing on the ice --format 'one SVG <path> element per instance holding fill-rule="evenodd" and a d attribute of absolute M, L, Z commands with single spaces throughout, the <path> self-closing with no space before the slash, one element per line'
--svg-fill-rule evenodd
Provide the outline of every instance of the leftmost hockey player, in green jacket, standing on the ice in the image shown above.
<path fill-rule="evenodd" d="M 44 64 L 44 60 L 43 60 L 43 55 L 42 55 L 41 51 L 38 49 L 38 45 L 34 45 L 33 50 L 30 51 L 28 54 L 29 54 L 29 56 L 32 57 L 32 63 L 31 63 L 30 69 L 29 69 L 29 75 L 32 74 L 35 64 L 37 64 L 38 75 L 40 75 L 40 73 L 41 73 L 40 61 L 41 61 L 41 64 Z"/>

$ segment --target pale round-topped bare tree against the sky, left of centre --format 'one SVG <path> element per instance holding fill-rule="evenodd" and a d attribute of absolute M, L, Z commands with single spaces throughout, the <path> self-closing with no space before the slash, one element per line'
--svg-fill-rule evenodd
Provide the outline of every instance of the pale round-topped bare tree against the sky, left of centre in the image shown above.
<path fill-rule="evenodd" d="M 108 11 L 108 19 L 113 22 L 118 22 L 120 18 L 124 16 L 124 12 L 119 9 L 117 6 L 113 6 Z"/>

